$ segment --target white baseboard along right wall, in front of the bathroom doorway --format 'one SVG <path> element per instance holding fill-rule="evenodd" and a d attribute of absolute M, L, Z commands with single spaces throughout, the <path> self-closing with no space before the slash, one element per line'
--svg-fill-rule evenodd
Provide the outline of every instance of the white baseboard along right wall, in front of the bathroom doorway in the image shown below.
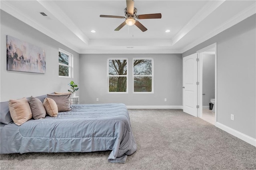
<path fill-rule="evenodd" d="M 230 127 L 227 127 L 226 125 L 222 125 L 219 122 L 216 122 L 215 126 L 256 147 L 256 139 L 254 139 L 246 134 L 243 134 L 237 130 L 234 130 Z"/>

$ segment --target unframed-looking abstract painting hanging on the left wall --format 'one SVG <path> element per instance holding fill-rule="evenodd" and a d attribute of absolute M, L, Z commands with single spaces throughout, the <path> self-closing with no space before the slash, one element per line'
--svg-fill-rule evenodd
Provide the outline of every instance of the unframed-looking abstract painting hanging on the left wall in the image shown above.
<path fill-rule="evenodd" d="M 7 70 L 45 73 L 44 49 L 12 36 L 6 36 Z"/>

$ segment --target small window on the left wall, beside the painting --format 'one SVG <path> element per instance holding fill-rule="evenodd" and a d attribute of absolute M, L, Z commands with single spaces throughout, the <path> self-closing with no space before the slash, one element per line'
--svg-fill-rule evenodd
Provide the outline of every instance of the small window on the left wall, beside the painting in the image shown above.
<path fill-rule="evenodd" d="M 71 60 L 73 55 L 59 49 L 59 76 L 60 77 L 71 77 Z"/>

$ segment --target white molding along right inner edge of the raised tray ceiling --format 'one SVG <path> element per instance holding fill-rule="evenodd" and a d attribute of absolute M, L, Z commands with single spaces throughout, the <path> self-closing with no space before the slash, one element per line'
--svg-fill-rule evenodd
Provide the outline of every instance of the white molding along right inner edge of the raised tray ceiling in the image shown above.
<path fill-rule="evenodd" d="M 172 45 L 180 41 L 186 34 L 202 22 L 209 14 L 216 10 L 226 0 L 209 1 L 191 20 L 171 39 Z"/>

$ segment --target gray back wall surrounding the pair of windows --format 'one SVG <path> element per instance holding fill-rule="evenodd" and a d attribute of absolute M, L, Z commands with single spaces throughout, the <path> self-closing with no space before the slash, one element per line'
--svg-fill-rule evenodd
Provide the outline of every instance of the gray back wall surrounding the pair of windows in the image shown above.
<path fill-rule="evenodd" d="M 107 90 L 107 59 L 128 58 L 128 94 Z M 154 94 L 132 93 L 132 58 L 154 59 Z M 80 54 L 80 103 L 124 103 L 128 106 L 181 106 L 181 54 Z M 99 101 L 96 102 L 96 98 Z M 167 99 L 164 102 L 164 98 Z"/>

